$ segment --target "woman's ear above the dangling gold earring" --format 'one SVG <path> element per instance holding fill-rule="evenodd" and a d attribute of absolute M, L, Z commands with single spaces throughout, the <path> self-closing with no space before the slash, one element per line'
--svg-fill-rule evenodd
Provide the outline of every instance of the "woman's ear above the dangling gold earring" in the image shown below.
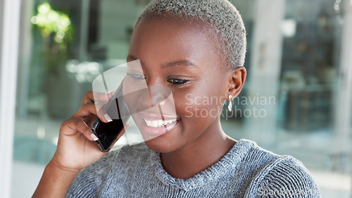
<path fill-rule="evenodd" d="M 235 98 L 239 95 L 244 85 L 244 81 L 246 81 L 246 75 L 247 71 L 244 67 L 239 67 L 228 72 L 226 99 L 228 99 L 229 94 L 232 95 L 232 98 Z"/>

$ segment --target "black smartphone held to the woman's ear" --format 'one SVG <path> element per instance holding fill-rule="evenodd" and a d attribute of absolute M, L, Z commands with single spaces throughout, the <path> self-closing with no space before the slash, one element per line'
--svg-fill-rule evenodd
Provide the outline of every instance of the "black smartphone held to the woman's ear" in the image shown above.
<path fill-rule="evenodd" d="M 123 129 L 123 126 L 130 118 L 130 112 L 127 104 L 122 97 L 123 81 L 113 92 L 113 97 L 104 106 L 106 113 L 113 120 L 109 123 L 103 123 L 99 118 L 94 120 L 91 125 L 92 131 L 98 140 L 96 142 L 102 152 L 107 152 L 113 147 L 116 138 Z"/>

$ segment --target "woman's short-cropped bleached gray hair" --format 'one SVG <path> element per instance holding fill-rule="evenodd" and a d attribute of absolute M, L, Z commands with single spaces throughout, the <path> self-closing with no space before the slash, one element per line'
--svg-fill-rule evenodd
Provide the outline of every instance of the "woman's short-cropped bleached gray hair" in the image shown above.
<path fill-rule="evenodd" d="M 200 20 L 213 27 L 220 40 L 220 53 L 227 68 L 244 66 L 246 30 L 239 11 L 227 0 L 154 0 L 144 8 L 142 18 L 177 16 L 182 20 Z"/>

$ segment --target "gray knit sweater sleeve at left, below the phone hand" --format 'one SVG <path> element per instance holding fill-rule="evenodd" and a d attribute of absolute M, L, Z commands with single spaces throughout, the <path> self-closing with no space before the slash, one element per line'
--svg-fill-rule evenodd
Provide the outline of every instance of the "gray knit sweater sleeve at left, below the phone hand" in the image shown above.
<path fill-rule="evenodd" d="M 96 163 L 82 169 L 73 180 L 65 197 L 97 197 L 101 192 L 103 181 L 108 177 L 111 166 L 113 166 L 113 162 L 117 159 L 121 149 L 111 151 Z"/>

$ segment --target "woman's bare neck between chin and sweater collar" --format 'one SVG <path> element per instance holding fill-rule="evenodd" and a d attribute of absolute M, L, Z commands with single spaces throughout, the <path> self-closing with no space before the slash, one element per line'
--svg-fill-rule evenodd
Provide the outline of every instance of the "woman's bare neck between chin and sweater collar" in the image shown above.
<path fill-rule="evenodd" d="M 222 159 L 236 140 L 223 132 L 218 125 L 208 128 L 196 141 L 169 153 L 161 154 L 165 171 L 174 178 L 187 179 L 206 170 Z"/>

